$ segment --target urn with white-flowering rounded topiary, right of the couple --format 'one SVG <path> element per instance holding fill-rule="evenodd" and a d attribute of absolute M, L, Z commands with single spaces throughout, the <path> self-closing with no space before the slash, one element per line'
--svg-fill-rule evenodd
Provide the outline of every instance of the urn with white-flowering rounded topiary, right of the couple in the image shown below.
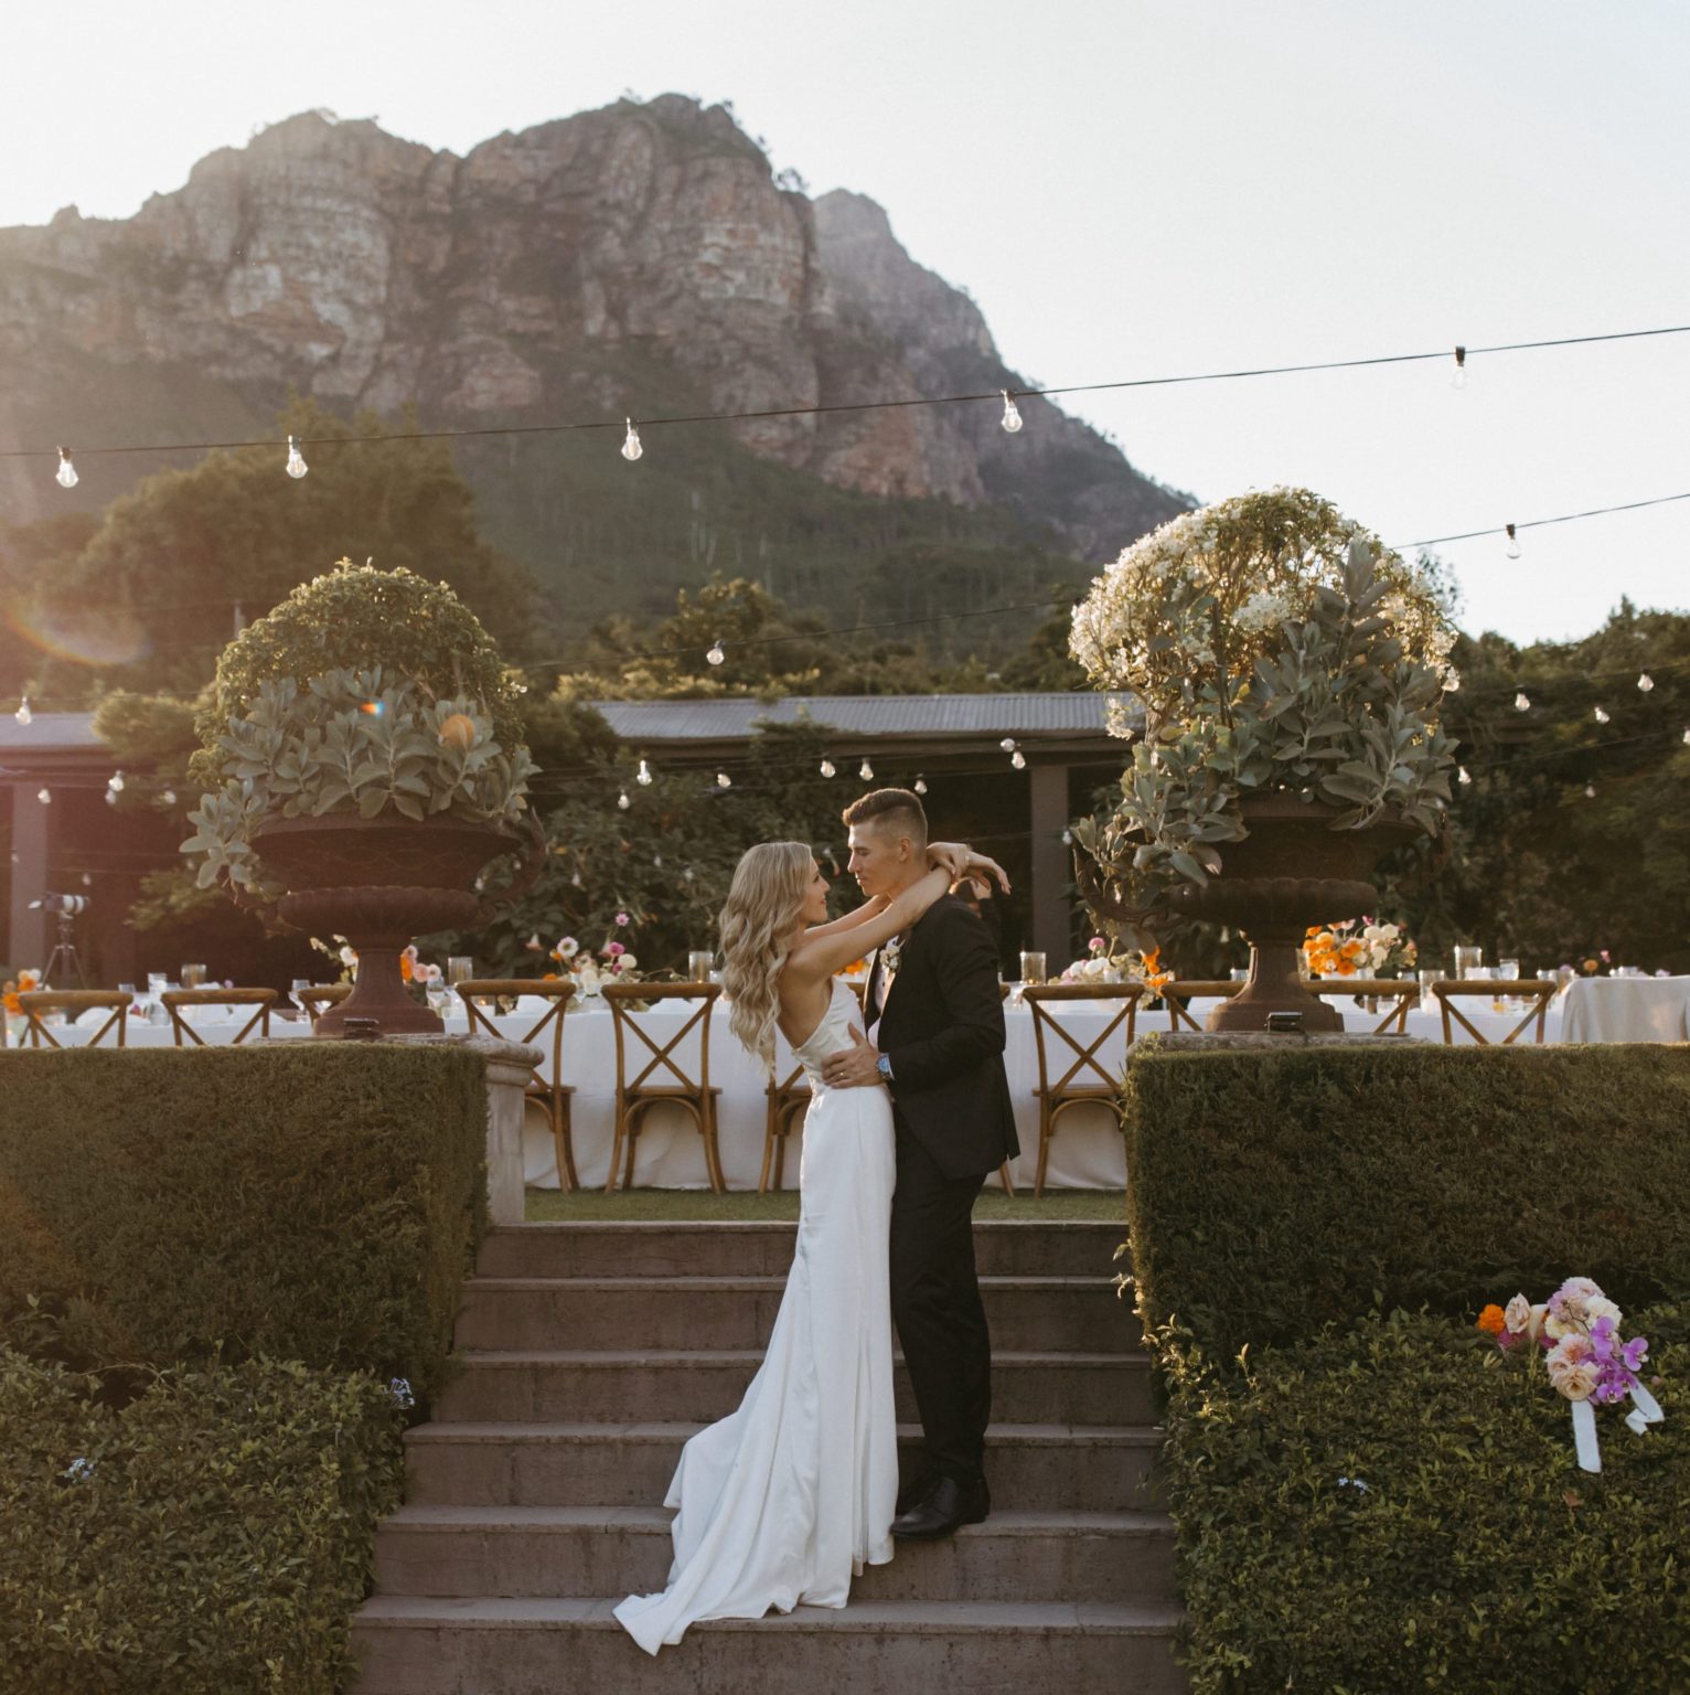
<path fill-rule="evenodd" d="M 1437 724 L 1454 639 L 1436 585 L 1305 488 L 1187 512 L 1127 547 L 1075 609 L 1071 651 L 1144 732 L 1105 819 L 1076 827 L 1081 893 L 1119 931 L 1241 929 L 1244 992 L 1209 1029 L 1339 1015 L 1302 988 L 1310 924 L 1376 903 L 1380 856 L 1443 829 Z"/>

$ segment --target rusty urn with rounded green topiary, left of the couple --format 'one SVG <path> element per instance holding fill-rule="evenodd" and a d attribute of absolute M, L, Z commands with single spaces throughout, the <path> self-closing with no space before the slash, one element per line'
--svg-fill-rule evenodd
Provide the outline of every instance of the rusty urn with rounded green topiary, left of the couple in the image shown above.
<path fill-rule="evenodd" d="M 439 1031 L 398 956 L 419 934 L 490 922 L 544 863 L 527 810 L 519 683 L 444 583 L 342 559 L 224 651 L 188 814 L 202 886 L 224 883 L 266 922 L 341 934 L 353 993 L 317 1022 Z M 215 786 L 210 786 L 215 785 Z M 498 902 L 481 873 L 522 864 Z M 370 1025 L 364 1025 L 370 1027 Z"/>

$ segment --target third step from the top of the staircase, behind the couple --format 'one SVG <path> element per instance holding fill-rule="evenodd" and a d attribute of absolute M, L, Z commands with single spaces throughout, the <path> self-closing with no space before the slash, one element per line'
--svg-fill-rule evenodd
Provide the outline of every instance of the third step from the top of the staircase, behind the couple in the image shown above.
<path fill-rule="evenodd" d="M 753 1349 L 561 1353 L 468 1351 L 434 1405 L 446 1422 L 498 1419 L 614 1424 L 670 1419 L 709 1424 L 746 1392 Z M 902 1359 L 898 1417 L 915 1420 Z M 992 1414 L 1003 1424 L 1151 1424 L 1148 1354 L 1005 1353 L 992 1356 Z"/>

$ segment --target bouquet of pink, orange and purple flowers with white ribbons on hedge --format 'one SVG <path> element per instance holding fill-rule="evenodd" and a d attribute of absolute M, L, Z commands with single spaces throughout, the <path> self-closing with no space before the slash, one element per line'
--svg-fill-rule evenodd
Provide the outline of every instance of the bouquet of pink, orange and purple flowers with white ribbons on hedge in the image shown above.
<path fill-rule="evenodd" d="M 1549 1387 L 1571 1405 L 1573 1446 L 1585 1471 L 1602 1470 L 1595 1407 L 1614 1407 L 1629 1397 L 1626 1425 L 1637 1436 L 1666 1417 L 1637 1376 L 1649 1356 L 1649 1339 L 1621 1341 L 1621 1317 L 1619 1307 L 1587 1276 L 1570 1276 L 1537 1307 L 1515 1295 L 1507 1307 L 1492 1303 L 1478 1315 L 1478 1329 L 1493 1336 L 1504 1353 L 1520 1348 L 1531 1359 L 1543 1354 Z"/>

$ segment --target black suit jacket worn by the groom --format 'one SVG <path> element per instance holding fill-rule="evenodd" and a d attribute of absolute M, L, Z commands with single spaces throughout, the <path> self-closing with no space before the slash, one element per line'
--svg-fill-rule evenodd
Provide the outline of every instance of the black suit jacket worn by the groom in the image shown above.
<path fill-rule="evenodd" d="M 1020 1153 L 1003 1076 L 997 949 L 980 917 L 942 895 L 910 927 L 876 1046 L 892 1061 L 892 1103 L 951 1178 L 995 1171 Z"/>

